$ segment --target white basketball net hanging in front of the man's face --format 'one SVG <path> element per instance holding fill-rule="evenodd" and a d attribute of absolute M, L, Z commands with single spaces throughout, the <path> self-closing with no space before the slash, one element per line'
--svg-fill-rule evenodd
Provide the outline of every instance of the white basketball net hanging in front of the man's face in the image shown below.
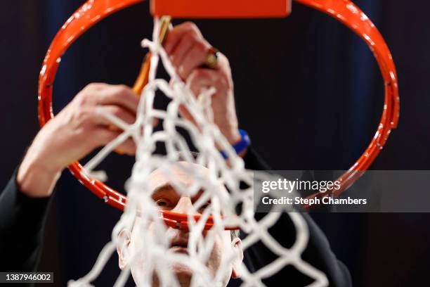
<path fill-rule="evenodd" d="M 195 97 L 193 93 L 185 87 L 184 82 L 176 75 L 173 65 L 159 43 L 159 20 L 155 20 L 153 41 L 144 39 L 142 46 L 149 48 L 152 52 L 149 83 L 141 94 L 141 101 L 138 106 L 136 122 L 128 125 L 114 115 L 105 115 L 112 124 L 124 130 L 117 139 L 107 144 L 84 168 L 88 174 L 96 176 L 96 172 L 91 172 L 105 156 L 112 152 L 119 144 L 127 138 L 132 137 L 136 141 L 136 164 L 133 166 L 131 178 L 126 184 L 127 205 L 124 213 L 112 231 L 112 241 L 107 243 L 100 252 L 96 264 L 91 272 L 77 281 L 70 281 L 69 286 L 91 286 L 106 262 L 115 253 L 117 246 L 125 250 L 128 267 L 124 269 L 115 286 L 123 286 L 128 280 L 130 268 L 136 266 L 133 254 L 126 249 L 124 237 L 119 236 L 120 231 L 133 229 L 133 224 L 137 216 L 140 217 L 139 226 L 134 228 L 143 231 L 148 230 L 152 224 L 153 232 L 142 232 L 142 245 L 145 253 L 145 272 L 138 275 L 135 281 L 142 286 L 152 286 L 153 274 L 157 274 L 160 286 L 179 286 L 174 272 L 171 271 L 172 264 L 183 264 L 193 271 L 191 286 L 221 286 L 221 278 L 227 272 L 226 268 L 230 262 L 237 258 L 237 253 L 233 252 L 231 245 L 224 246 L 228 256 L 223 257 L 216 274 L 211 274 L 205 264 L 214 246 L 214 235 L 226 232 L 224 227 L 240 227 L 248 236 L 242 241 L 243 249 L 249 248 L 257 241 L 262 241 L 268 249 L 278 259 L 265 267 L 252 273 L 249 272 L 245 264 L 241 265 L 242 286 L 265 286 L 262 279 L 268 278 L 279 272 L 287 264 L 294 265 L 299 272 L 314 279 L 309 286 L 327 286 L 327 278 L 323 272 L 315 269 L 301 259 L 301 253 L 306 249 L 308 243 L 308 228 L 303 217 L 298 212 L 290 212 L 296 229 L 296 241 L 291 248 L 283 247 L 276 238 L 268 233 L 268 228 L 273 226 L 281 216 L 280 212 L 268 213 L 263 219 L 254 219 L 254 180 L 266 180 L 269 174 L 263 172 L 252 172 L 245 170 L 245 165 L 239 156 L 235 154 L 233 148 L 219 131 L 218 127 L 211 122 L 210 99 L 215 89 L 204 91 L 200 96 Z M 169 73 L 170 83 L 164 79 L 156 79 L 157 64 L 161 58 L 164 68 Z M 155 92 L 162 91 L 171 99 L 167 110 L 157 110 L 154 108 Z M 178 106 L 184 105 L 195 118 L 199 128 L 191 122 L 182 119 L 178 115 Z M 163 129 L 155 132 L 153 130 L 153 120 L 162 120 Z M 183 136 L 176 130 L 182 127 L 190 134 L 190 137 L 199 152 L 197 158 L 193 158 L 188 144 Z M 156 143 L 162 142 L 167 149 L 167 155 L 155 155 Z M 229 162 L 222 157 L 216 144 L 226 151 Z M 169 251 L 170 242 L 166 236 L 167 226 L 159 216 L 159 209 L 152 200 L 152 190 L 148 188 L 148 175 L 156 170 L 162 169 L 166 174 L 171 174 L 171 167 L 174 162 L 178 162 L 181 157 L 185 161 L 194 162 L 198 165 L 209 168 L 209 177 L 203 176 L 201 172 L 184 168 L 185 172 L 195 179 L 192 186 L 183 186 L 181 182 L 171 177 L 171 185 L 179 194 L 192 196 L 201 189 L 204 193 L 193 204 L 194 210 L 198 210 L 202 204 L 211 200 L 211 204 L 203 212 L 202 219 L 193 221 L 192 213 L 188 215 L 190 236 L 188 238 L 188 253 L 173 253 Z M 178 166 L 178 165 L 176 165 Z M 248 189 L 240 189 L 240 181 L 249 185 Z M 219 186 L 228 186 L 230 193 L 219 192 Z M 258 195 L 256 195 L 258 196 Z M 236 215 L 235 206 L 242 204 L 240 215 Z M 222 213 L 221 213 L 222 207 Z M 276 211 L 276 210 L 275 210 Z M 277 211 L 282 211 L 278 208 Z M 284 210 L 285 211 L 285 210 Z M 194 211 L 197 212 L 197 211 Z M 221 217 L 222 214 L 222 217 Z M 202 230 L 207 217 L 214 218 L 214 227 L 202 236 Z M 135 269 L 137 266 L 135 267 Z M 133 270 L 134 271 L 134 270 Z M 134 276 L 133 272 L 133 276 Z M 285 279 L 288 280 L 288 279 Z"/>

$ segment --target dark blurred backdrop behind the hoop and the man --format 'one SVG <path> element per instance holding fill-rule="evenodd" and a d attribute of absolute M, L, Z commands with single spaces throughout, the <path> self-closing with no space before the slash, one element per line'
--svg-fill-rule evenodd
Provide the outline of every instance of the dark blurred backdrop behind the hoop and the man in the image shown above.
<path fill-rule="evenodd" d="M 37 79 L 48 44 L 82 3 L 2 1 L 0 186 L 37 133 Z M 389 44 L 400 87 L 400 125 L 371 168 L 429 170 L 430 4 L 356 4 Z M 363 153 L 381 115 L 383 85 L 372 53 L 355 34 L 299 4 L 285 19 L 196 22 L 230 59 L 240 126 L 273 169 L 344 170 Z M 151 32 L 145 3 L 84 34 L 62 59 L 55 110 L 90 82 L 131 85 L 143 56 L 140 41 Z M 110 184 L 123 190 L 132 162 L 119 155 L 108 158 L 103 167 Z M 423 186 L 423 192 L 429 187 Z M 63 172 L 48 219 L 41 271 L 56 272 L 58 286 L 89 272 L 119 215 Z M 313 217 L 350 269 L 355 286 L 416 286 L 428 277 L 428 214 Z M 96 286 L 112 285 L 118 273 L 115 261 L 112 257 Z"/>

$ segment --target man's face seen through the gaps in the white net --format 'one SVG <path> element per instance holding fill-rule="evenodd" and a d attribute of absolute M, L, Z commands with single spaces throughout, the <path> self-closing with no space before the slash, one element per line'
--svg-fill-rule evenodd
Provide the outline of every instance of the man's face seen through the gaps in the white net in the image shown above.
<path fill-rule="evenodd" d="M 193 184 L 193 178 L 190 177 L 190 174 L 185 172 L 185 170 L 181 169 L 181 167 L 185 167 L 187 169 L 193 169 L 198 172 L 201 172 L 205 176 L 209 176 L 209 170 L 200 165 L 195 165 L 190 162 L 178 162 L 176 165 L 172 166 L 173 176 L 177 181 L 180 181 L 184 186 L 190 186 Z M 158 205 L 159 209 L 162 210 L 170 210 L 172 212 L 178 212 L 183 214 L 188 214 L 192 212 L 193 204 L 201 195 L 201 192 L 197 193 L 195 196 L 185 196 L 181 195 L 174 187 L 171 185 L 171 181 L 167 174 L 164 174 L 161 170 L 155 170 L 148 177 L 148 184 L 150 186 L 150 190 L 153 191 L 152 199 Z M 220 186 L 220 192 L 227 193 L 226 189 L 223 186 Z M 209 205 L 206 203 L 205 205 L 198 210 L 198 213 L 202 213 L 204 208 Z M 136 284 L 141 285 L 140 274 L 145 273 L 145 268 L 147 268 L 148 264 L 145 260 L 145 248 L 143 240 L 143 232 L 154 232 L 154 224 L 150 224 L 149 229 L 142 230 L 139 228 L 140 222 L 139 218 L 136 219 L 134 224 L 133 231 L 131 235 L 127 239 L 128 242 L 128 250 L 131 255 L 135 256 L 135 263 L 131 267 L 131 274 L 133 275 L 133 279 L 136 281 Z M 214 233 L 213 231 L 204 231 L 202 236 L 206 237 L 208 234 Z M 167 238 L 170 241 L 169 252 L 171 253 L 183 253 L 188 255 L 188 231 L 184 231 L 181 229 L 173 229 L 169 227 L 167 229 Z M 230 276 L 233 278 L 237 278 L 239 274 L 237 273 L 237 267 L 242 262 L 242 245 L 239 238 L 231 239 L 230 231 L 222 231 L 221 234 L 213 234 L 214 236 L 214 246 L 209 255 L 209 259 L 206 262 L 206 267 L 211 274 L 211 276 L 215 276 L 216 272 L 219 270 L 220 264 L 223 258 L 231 255 L 232 252 L 238 252 L 239 256 L 237 256 L 237 260 L 235 262 L 230 263 L 230 266 L 226 268 L 226 273 L 222 274 L 222 283 L 224 286 L 227 285 Z M 122 260 L 122 250 L 118 250 L 119 253 L 119 267 L 124 268 L 126 263 Z M 189 286 L 190 280 L 193 275 L 193 270 L 190 269 L 185 264 L 175 263 L 171 264 L 169 267 L 171 271 L 176 275 L 181 286 Z M 162 276 L 162 274 L 157 274 L 157 276 Z M 157 276 L 153 276 L 153 286 L 158 285 Z"/>

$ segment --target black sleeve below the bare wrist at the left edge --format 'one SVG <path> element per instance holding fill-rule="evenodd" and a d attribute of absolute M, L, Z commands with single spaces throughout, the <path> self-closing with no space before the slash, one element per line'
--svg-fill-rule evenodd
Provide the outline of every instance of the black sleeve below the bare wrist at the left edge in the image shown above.
<path fill-rule="evenodd" d="M 0 272 L 36 269 L 49 202 L 21 193 L 15 171 L 0 194 Z"/>

